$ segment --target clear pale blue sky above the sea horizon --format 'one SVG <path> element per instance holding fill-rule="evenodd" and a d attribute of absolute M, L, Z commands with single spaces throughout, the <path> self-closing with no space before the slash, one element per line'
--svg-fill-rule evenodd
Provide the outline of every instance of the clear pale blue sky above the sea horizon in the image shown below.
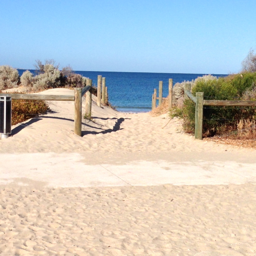
<path fill-rule="evenodd" d="M 82 71 L 239 72 L 255 0 L 0 0 L 0 65 Z"/>

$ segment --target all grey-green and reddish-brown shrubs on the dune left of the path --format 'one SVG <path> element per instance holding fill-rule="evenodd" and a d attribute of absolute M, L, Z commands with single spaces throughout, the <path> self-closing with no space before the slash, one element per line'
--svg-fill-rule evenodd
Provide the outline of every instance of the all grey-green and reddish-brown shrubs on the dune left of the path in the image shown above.
<path fill-rule="evenodd" d="M 50 59 L 42 63 L 36 60 L 36 75 L 29 70 L 19 76 L 18 71 L 10 66 L 0 66 L 0 93 L 40 92 L 52 88 L 83 88 L 86 86 L 86 77 L 74 73 L 70 66 L 59 70 L 59 65 Z M 97 89 L 93 86 L 92 93 L 97 96 Z M 106 105 L 110 105 L 109 101 Z M 26 121 L 32 117 L 49 111 L 45 101 L 40 100 L 12 100 L 12 125 Z M 89 117 L 87 117 L 89 118 Z"/>

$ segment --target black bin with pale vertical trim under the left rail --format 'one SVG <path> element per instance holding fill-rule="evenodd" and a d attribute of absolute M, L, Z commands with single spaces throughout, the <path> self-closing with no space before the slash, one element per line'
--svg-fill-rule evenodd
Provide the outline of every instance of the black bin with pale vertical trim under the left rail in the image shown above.
<path fill-rule="evenodd" d="M 12 98 L 0 96 L 0 133 L 11 133 Z"/>

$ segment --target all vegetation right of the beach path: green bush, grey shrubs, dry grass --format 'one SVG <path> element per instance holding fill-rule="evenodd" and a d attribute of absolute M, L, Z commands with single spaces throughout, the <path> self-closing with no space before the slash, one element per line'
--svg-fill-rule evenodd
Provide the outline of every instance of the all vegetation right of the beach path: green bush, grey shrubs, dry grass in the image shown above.
<path fill-rule="evenodd" d="M 174 86 L 175 106 L 170 110 L 170 116 L 182 118 L 184 131 L 194 133 L 195 103 L 190 99 L 184 100 L 185 83 Z M 196 96 L 197 92 L 203 92 L 207 100 L 256 100 L 256 55 L 252 50 L 249 52 L 239 74 L 219 78 L 208 75 L 190 83 L 191 93 Z M 255 107 L 204 106 L 203 136 L 228 135 L 231 138 L 255 139 L 255 120 Z"/>

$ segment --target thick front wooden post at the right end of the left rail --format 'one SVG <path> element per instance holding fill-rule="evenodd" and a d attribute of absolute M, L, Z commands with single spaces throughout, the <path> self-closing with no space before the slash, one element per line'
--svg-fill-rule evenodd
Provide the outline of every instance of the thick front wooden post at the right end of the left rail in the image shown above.
<path fill-rule="evenodd" d="M 75 88 L 75 134 L 82 136 L 82 88 Z"/>

